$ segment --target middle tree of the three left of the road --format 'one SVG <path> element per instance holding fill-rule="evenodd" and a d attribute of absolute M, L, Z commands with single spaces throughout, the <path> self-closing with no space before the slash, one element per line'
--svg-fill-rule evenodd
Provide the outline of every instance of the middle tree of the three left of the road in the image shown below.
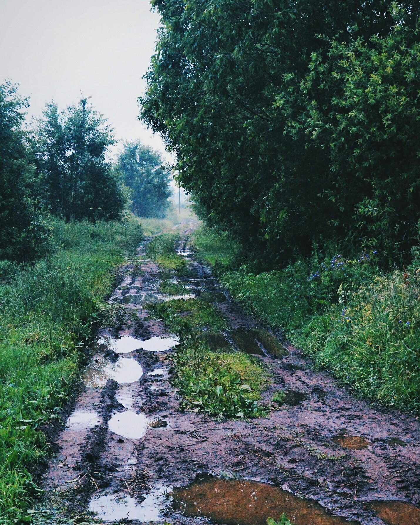
<path fill-rule="evenodd" d="M 87 99 L 63 112 L 54 102 L 47 104 L 37 134 L 37 165 L 45 173 L 53 214 L 66 220 L 122 216 L 128 194 L 106 159 L 108 146 L 114 143 L 112 130 Z"/>

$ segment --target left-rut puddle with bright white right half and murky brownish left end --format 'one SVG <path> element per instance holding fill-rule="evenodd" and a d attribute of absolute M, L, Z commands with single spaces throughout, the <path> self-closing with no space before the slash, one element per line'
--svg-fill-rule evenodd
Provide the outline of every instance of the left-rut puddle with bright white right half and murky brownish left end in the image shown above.
<path fill-rule="evenodd" d="M 119 384 L 133 383 L 139 381 L 142 374 L 143 369 L 135 359 L 119 358 L 115 363 L 110 363 L 98 357 L 86 367 L 83 381 L 90 387 L 104 386 L 109 379 Z"/>

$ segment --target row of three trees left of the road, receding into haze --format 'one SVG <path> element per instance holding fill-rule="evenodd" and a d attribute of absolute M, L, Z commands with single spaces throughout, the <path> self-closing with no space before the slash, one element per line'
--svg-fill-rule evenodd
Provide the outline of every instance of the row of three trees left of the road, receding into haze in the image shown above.
<path fill-rule="evenodd" d="M 61 112 L 47 104 L 30 128 L 27 107 L 16 85 L 0 85 L 0 259 L 46 254 L 50 216 L 95 221 L 121 220 L 130 210 L 165 213 L 170 171 L 158 152 L 127 143 L 111 162 L 112 130 L 86 98 Z"/>

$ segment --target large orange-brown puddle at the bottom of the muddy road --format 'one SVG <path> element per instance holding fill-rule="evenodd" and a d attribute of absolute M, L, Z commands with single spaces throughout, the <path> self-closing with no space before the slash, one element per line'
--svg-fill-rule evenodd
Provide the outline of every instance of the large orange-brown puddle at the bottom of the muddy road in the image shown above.
<path fill-rule="evenodd" d="M 267 525 L 283 512 L 297 525 L 350 525 L 331 516 L 312 500 L 293 496 L 278 487 L 248 480 L 211 479 L 173 489 L 174 510 L 188 517 L 206 517 L 225 525 Z"/>

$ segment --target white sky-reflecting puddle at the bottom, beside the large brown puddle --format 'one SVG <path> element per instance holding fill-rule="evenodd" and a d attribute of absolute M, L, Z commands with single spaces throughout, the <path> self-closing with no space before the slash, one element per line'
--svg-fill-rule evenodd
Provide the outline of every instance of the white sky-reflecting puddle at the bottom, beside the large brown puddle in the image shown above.
<path fill-rule="evenodd" d="M 142 503 L 137 503 L 134 498 L 122 493 L 93 496 L 89 502 L 89 510 L 104 521 L 160 521 L 160 509 L 165 504 L 167 491 L 163 487 L 153 488 Z"/>

